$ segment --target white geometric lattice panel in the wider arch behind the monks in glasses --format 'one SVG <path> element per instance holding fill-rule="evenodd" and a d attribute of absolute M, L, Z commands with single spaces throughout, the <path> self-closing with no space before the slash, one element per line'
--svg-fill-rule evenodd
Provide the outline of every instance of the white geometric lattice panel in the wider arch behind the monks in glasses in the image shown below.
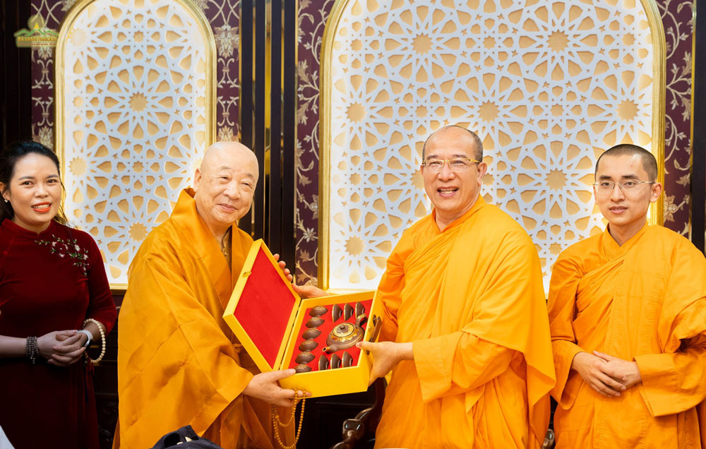
<path fill-rule="evenodd" d="M 375 288 L 431 211 L 421 145 L 441 126 L 483 140 L 481 193 L 530 233 L 545 285 L 558 253 L 604 227 L 597 155 L 621 142 L 657 152 L 660 67 L 639 1 L 349 0 L 336 14 L 322 78 L 330 288 Z"/>

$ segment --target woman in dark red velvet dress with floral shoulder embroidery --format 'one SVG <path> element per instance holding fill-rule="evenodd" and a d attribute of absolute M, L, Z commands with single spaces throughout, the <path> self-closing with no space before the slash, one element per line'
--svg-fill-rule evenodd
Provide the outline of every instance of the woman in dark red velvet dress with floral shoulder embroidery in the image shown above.
<path fill-rule="evenodd" d="M 66 226 L 59 160 L 35 142 L 0 153 L 0 427 L 16 449 L 98 448 L 83 353 L 116 319 L 100 251 Z"/>

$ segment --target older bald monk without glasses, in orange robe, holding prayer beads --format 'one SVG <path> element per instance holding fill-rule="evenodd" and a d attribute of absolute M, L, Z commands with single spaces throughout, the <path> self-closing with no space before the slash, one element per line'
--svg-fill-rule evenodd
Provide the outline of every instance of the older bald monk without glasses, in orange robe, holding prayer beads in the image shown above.
<path fill-rule="evenodd" d="M 193 189 L 140 246 L 120 311 L 114 448 L 150 448 L 187 424 L 224 448 L 273 448 L 270 404 L 288 416 L 304 395 L 277 385 L 294 369 L 259 373 L 222 319 L 253 243 L 236 222 L 257 181 L 249 148 L 211 145 Z"/>

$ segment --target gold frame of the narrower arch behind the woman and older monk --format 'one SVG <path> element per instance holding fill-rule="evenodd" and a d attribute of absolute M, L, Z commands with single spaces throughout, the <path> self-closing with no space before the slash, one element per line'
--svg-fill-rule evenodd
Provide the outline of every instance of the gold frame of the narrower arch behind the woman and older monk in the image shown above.
<path fill-rule="evenodd" d="M 78 0 L 64 16 L 64 20 L 59 25 L 59 38 L 56 41 L 56 58 L 54 71 L 54 114 L 56 116 L 54 129 L 54 150 L 56 156 L 59 157 L 62 172 L 66 172 L 66 152 L 64 150 L 64 73 L 66 64 L 64 61 L 64 46 L 66 46 L 69 33 L 73 23 L 86 8 L 97 0 Z M 213 36 L 208 19 L 196 4 L 191 0 L 170 0 L 174 1 L 184 8 L 184 11 L 189 13 L 193 18 L 198 30 L 201 32 L 204 42 L 208 45 L 204 49 L 205 56 L 205 118 L 207 126 L 205 126 L 205 148 L 215 142 L 216 136 L 216 42 Z M 203 148 L 205 150 L 205 148 Z M 62 198 L 62 203 L 63 203 Z M 114 292 L 124 292 L 128 285 L 123 283 L 111 283 L 110 288 Z"/>

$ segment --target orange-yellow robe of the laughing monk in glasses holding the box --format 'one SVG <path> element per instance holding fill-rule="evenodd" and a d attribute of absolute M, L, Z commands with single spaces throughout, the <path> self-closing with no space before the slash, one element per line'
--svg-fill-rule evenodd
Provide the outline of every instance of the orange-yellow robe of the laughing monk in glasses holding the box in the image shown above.
<path fill-rule="evenodd" d="M 479 197 L 439 232 L 402 234 L 378 287 L 381 340 L 413 342 L 393 369 L 376 448 L 538 448 L 554 386 L 537 251 Z"/>

